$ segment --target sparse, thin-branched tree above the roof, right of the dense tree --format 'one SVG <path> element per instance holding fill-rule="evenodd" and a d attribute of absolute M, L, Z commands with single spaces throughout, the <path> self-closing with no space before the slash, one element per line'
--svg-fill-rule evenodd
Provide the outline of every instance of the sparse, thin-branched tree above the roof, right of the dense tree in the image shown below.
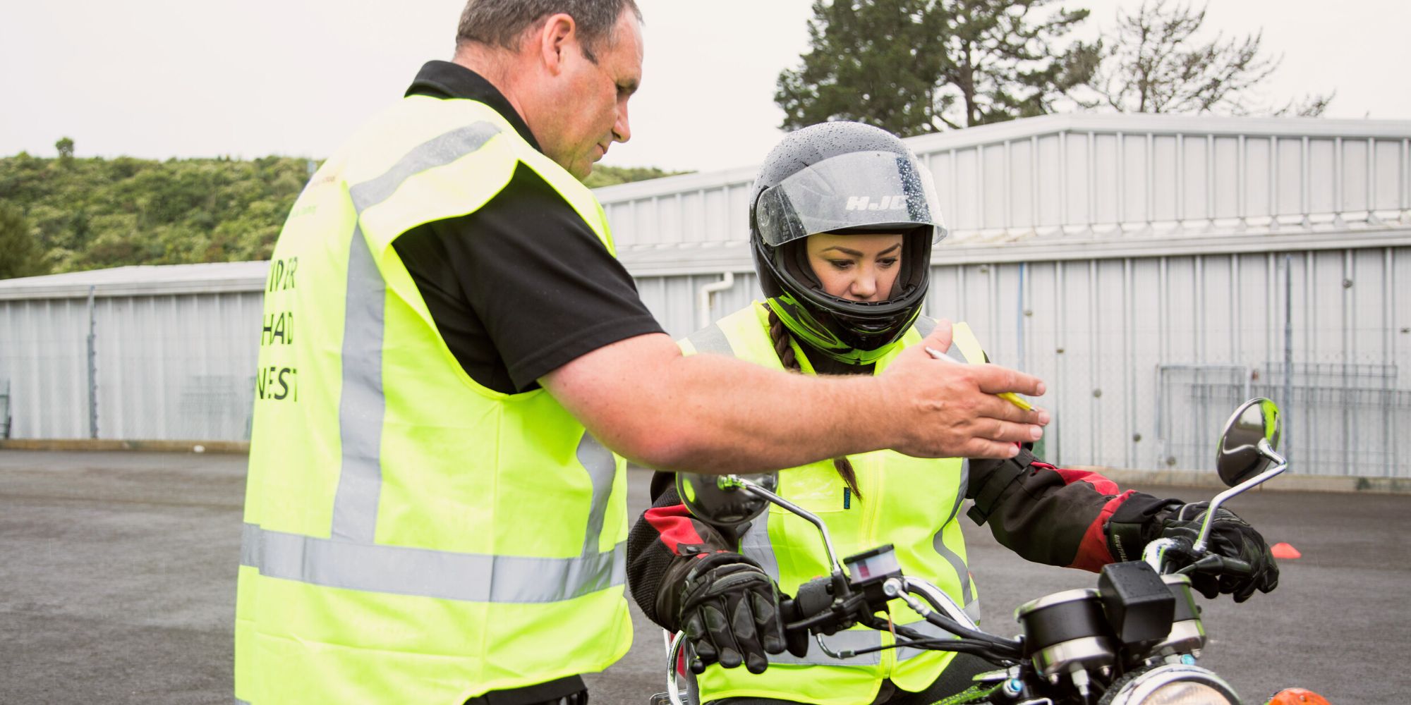
<path fill-rule="evenodd" d="M 1120 113 L 1228 113 L 1235 116 L 1319 116 L 1333 94 L 1311 94 L 1281 107 L 1261 106 L 1260 83 L 1278 69 L 1281 58 L 1264 55 L 1263 32 L 1201 38 L 1205 7 L 1143 0 L 1136 13 L 1118 11 L 1102 65 L 1085 107 Z"/>

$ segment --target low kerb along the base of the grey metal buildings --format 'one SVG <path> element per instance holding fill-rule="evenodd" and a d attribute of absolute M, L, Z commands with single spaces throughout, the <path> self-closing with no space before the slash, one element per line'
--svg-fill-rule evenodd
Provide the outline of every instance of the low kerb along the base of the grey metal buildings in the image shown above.
<path fill-rule="evenodd" d="M 200 447 L 200 451 L 195 448 Z M 157 453 L 250 453 L 250 441 L 202 440 L 109 440 L 109 439 L 11 439 L 0 440 L 0 450 L 54 451 L 157 451 Z M 1067 465 L 1072 470 L 1099 472 L 1118 485 L 1173 485 L 1223 488 L 1219 475 L 1205 470 L 1136 470 L 1103 465 Z M 1411 478 L 1367 478 L 1340 475 L 1298 475 L 1285 472 L 1256 491 L 1267 492 L 1367 492 L 1411 495 Z"/>

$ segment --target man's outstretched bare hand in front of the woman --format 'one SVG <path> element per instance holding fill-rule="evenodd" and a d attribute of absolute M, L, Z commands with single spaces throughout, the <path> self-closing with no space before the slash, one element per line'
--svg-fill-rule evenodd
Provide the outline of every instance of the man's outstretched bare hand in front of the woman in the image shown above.
<path fill-rule="evenodd" d="M 945 351 L 950 345 L 951 321 L 943 319 L 920 345 L 903 350 L 882 374 L 889 393 L 900 402 L 896 423 L 910 430 L 897 451 L 926 458 L 1010 458 L 1019 453 L 1019 443 L 1043 437 L 1048 412 L 1026 412 L 995 396 L 1041 396 L 1043 381 L 999 365 L 934 360 L 926 352 L 927 347 Z"/>

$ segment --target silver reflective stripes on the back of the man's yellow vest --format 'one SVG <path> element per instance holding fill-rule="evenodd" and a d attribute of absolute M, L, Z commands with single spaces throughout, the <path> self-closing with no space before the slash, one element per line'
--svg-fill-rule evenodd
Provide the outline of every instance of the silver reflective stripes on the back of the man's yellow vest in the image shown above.
<path fill-rule="evenodd" d="M 384 202 L 408 178 L 480 149 L 499 128 L 476 123 L 423 142 L 387 173 L 349 189 L 357 213 Z M 332 539 L 267 532 L 246 525 L 241 564 L 262 575 L 333 588 L 474 602 L 553 602 L 626 581 L 625 541 L 598 553 L 602 516 L 612 491 L 612 454 L 584 433 L 577 458 L 593 482 L 583 556 L 533 558 L 478 556 L 373 543 L 382 474 L 382 307 L 387 285 L 361 226 L 349 252 L 339 431 L 343 470 L 333 502 Z M 491 587 L 491 581 L 494 587 Z"/>

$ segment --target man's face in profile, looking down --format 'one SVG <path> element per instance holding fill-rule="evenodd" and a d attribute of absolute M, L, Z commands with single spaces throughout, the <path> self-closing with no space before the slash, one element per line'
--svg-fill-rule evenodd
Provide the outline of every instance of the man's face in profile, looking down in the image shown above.
<path fill-rule="evenodd" d="M 631 10 L 612 38 L 611 47 L 598 47 L 597 63 L 577 51 L 566 56 L 557 127 L 539 140 L 550 159 L 580 179 L 612 142 L 632 137 L 626 102 L 642 80 L 642 30 Z"/>

